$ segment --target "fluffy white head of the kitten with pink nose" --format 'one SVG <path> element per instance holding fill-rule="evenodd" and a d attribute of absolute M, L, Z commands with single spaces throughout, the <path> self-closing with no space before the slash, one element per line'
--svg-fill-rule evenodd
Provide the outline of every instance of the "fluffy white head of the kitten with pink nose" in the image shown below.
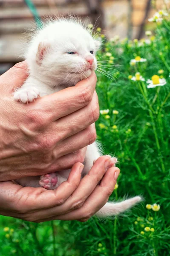
<path fill-rule="evenodd" d="M 95 52 L 100 41 L 75 20 L 57 20 L 45 26 L 34 38 L 27 54 L 41 76 L 66 86 L 89 77 L 97 67 Z"/>

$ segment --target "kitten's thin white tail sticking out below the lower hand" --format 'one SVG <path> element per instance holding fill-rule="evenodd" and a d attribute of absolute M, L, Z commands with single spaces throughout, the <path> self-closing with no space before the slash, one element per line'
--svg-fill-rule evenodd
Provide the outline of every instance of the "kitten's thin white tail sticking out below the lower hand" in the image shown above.
<path fill-rule="evenodd" d="M 118 215 L 121 212 L 126 211 L 127 209 L 130 209 L 135 204 L 142 201 L 142 198 L 140 196 L 135 196 L 134 198 L 127 199 L 125 201 L 122 201 L 120 203 L 109 203 L 107 202 L 104 207 L 102 207 L 98 212 L 96 212 L 96 216 L 98 217 L 109 217 L 113 215 Z"/>

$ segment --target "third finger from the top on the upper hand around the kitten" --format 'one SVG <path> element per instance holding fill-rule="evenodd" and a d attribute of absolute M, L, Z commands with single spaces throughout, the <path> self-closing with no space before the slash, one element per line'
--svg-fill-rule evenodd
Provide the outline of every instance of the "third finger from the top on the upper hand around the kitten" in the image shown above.
<path fill-rule="evenodd" d="M 83 131 L 80 131 L 79 133 L 61 141 L 61 143 L 58 143 L 57 147 L 53 151 L 53 154 L 57 157 L 62 157 L 64 154 L 69 154 L 92 144 L 95 142 L 95 140 L 96 130 L 94 123 Z"/>

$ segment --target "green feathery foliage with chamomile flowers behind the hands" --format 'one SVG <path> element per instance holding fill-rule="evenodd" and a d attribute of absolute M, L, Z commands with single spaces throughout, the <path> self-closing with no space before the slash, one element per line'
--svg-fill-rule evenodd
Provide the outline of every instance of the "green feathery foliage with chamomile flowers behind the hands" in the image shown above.
<path fill-rule="evenodd" d="M 98 73 L 100 109 L 109 109 L 109 113 L 101 114 L 96 124 L 104 153 L 117 156 L 121 169 L 118 188 L 110 199 L 142 195 L 145 201 L 130 212 L 106 221 L 91 218 L 85 223 L 34 224 L 1 216 L 0 256 L 170 255 L 169 17 L 157 24 L 155 37 L 148 39 L 149 44 L 127 39 L 106 41 L 104 51 L 98 52 L 99 65 L 109 75 L 104 76 L 105 71 Z M 113 56 L 114 60 L 110 58 Z M 136 56 L 147 61 L 131 66 L 130 60 Z M 113 64 L 109 63 L 112 61 Z M 158 70 L 163 70 L 161 75 Z M 132 81 L 131 76 L 136 72 L 145 81 Z M 148 89 L 146 81 L 153 75 L 162 76 L 167 83 Z M 113 110 L 118 114 L 113 114 Z M 146 208 L 146 204 L 154 203 L 160 205 L 157 212 Z M 14 232 L 4 231 L 4 227 Z M 149 230 L 145 227 L 154 232 L 145 231 Z"/>

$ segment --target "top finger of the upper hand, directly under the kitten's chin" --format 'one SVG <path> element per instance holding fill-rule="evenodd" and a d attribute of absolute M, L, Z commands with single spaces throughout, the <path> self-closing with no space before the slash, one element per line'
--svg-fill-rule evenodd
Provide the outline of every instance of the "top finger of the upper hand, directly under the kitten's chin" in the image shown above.
<path fill-rule="evenodd" d="M 93 72 L 88 79 L 80 81 L 75 86 L 39 98 L 37 102 L 40 108 L 45 107 L 45 111 L 52 114 L 55 121 L 88 105 L 92 100 L 95 85 L 96 75 Z"/>

